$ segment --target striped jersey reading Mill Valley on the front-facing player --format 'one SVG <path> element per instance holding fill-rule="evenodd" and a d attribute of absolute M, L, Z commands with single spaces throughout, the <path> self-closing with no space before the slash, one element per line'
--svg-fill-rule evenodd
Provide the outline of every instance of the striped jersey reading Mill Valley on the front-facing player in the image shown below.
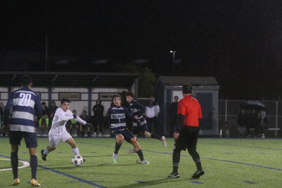
<path fill-rule="evenodd" d="M 114 106 L 108 109 L 107 114 L 110 118 L 110 125 L 112 132 L 117 130 L 124 130 L 126 128 L 125 116 L 132 119 L 132 121 L 137 122 L 129 110 L 123 106 Z"/>

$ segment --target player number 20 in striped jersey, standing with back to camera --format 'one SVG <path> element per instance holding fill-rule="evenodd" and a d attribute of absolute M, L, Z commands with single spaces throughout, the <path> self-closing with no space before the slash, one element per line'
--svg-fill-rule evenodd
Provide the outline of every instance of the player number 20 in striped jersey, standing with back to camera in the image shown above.
<path fill-rule="evenodd" d="M 3 131 L 8 131 L 7 121 L 10 115 L 10 108 L 13 107 L 11 126 L 9 129 L 9 140 L 11 144 L 11 165 L 14 176 L 13 185 L 18 185 L 18 146 L 24 137 L 26 147 L 29 149 L 31 167 L 31 185 L 40 186 L 36 180 L 37 156 L 36 156 L 36 131 L 34 125 L 34 110 L 37 118 L 42 116 L 42 106 L 38 93 L 32 91 L 32 79 L 28 75 L 21 77 L 21 89 L 13 91 L 8 99 L 4 110 Z"/>

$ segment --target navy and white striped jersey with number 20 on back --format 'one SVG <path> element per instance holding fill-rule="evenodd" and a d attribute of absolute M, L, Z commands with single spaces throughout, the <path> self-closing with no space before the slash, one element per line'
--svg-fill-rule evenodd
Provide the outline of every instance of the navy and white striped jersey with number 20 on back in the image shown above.
<path fill-rule="evenodd" d="M 42 116 L 42 105 L 38 93 L 29 89 L 29 87 L 22 87 L 13 91 L 5 107 L 5 124 L 7 124 L 9 109 L 12 106 L 13 115 L 10 130 L 34 133 L 34 109 L 38 118 Z"/>

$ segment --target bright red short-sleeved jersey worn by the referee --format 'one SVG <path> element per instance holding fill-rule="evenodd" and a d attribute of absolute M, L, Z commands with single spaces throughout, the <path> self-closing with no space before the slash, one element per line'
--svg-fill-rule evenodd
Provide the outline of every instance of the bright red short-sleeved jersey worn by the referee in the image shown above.
<path fill-rule="evenodd" d="M 191 95 L 185 95 L 185 97 L 178 102 L 177 114 L 185 116 L 185 126 L 199 127 L 198 118 L 202 118 L 201 105 Z"/>

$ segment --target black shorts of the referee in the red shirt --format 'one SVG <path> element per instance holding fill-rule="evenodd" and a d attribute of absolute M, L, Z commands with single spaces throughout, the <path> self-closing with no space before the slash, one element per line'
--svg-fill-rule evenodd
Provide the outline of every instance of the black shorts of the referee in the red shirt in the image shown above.
<path fill-rule="evenodd" d="M 174 142 L 174 150 L 176 148 L 184 151 L 186 148 L 188 151 L 196 150 L 199 131 L 199 127 L 184 126 L 178 139 Z"/>

